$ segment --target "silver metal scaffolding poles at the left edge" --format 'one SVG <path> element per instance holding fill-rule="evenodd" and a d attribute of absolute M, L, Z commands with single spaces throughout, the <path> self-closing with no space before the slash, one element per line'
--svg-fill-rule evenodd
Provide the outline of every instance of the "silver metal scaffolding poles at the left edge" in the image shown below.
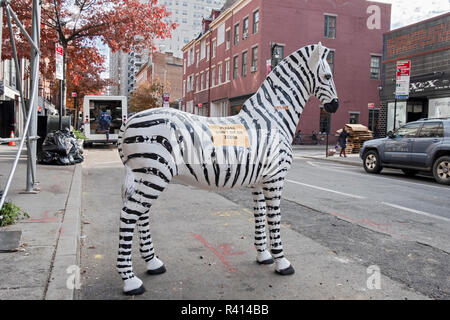
<path fill-rule="evenodd" d="M 39 59 L 41 52 L 39 50 L 39 43 L 40 43 L 40 20 L 41 20 L 41 4 L 39 0 L 33 0 L 32 5 L 32 35 L 30 36 L 26 30 L 25 27 L 20 23 L 19 19 L 17 18 L 16 14 L 12 10 L 9 1 L 7 0 L 0 0 L 0 5 L 4 10 L 7 12 L 7 18 L 8 18 L 8 28 L 10 34 L 14 34 L 14 31 L 11 27 L 11 17 L 14 19 L 16 25 L 19 27 L 19 29 L 22 31 L 22 33 L 25 35 L 25 37 L 28 39 L 28 41 L 31 44 L 31 97 L 30 97 L 30 103 L 28 106 L 28 113 L 26 115 L 26 121 L 24 126 L 24 132 L 23 136 L 19 143 L 19 148 L 17 150 L 16 157 L 14 159 L 11 172 L 8 176 L 8 180 L 6 182 L 5 189 L 3 191 L 2 197 L 0 199 L 0 209 L 3 207 L 3 204 L 5 203 L 6 196 L 8 194 L 9 187 L 11 186 L 11 181 L 14 176 L 14 173 L 17 168 L 17 163 L 19 162 L 20 154 L 23 149 L 23 145 L 25 143 L 25 140 L 27 140 L 27 143 L 29 143 L 30 147 L 28 148 L 28 166 L 27 166 L 27 187 L 26 190 L 29 192 L 33 191 L 34 187 L 34 173 L 36 172 L 36 140 L 34 139 L 26 139 L 27 136 L 36 136 L 37 135 L 37 103 L 38 103 L 38 83 L 39 83 Z M 3 15 L 0 17 L 0 19 L 3 20 Z M 13 45 L 13 44 L 12 44 Z M 14 50 L 15 51 L 15 50 Z M 14 60 L 18 61 L 17 52 L 14 53 Z M 16 72 L 17 72 L 16 68 Z M 21 77 L 19 76 L 19 79 L 21 80 Z M 20 92 L 21 101 L 24 101 L 23 92 Z"/>

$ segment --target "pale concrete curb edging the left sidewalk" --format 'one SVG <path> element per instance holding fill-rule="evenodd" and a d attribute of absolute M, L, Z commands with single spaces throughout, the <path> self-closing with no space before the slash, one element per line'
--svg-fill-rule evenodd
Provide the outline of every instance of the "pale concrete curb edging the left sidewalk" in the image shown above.
<path fill-rule="evenodd" d="M 53 259 L 45 300 L 74 300 L 79 283 L 82 166 L 75 170 Z M 71 281 L 69 281 L 71 280 Z M 72 284 L 73 288 L 70 288 Z"/>

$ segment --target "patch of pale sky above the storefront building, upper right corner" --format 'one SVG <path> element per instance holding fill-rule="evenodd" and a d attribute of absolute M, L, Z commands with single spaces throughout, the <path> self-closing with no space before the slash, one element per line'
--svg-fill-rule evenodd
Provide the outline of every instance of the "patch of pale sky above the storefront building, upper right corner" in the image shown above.
<path fill-rule="evenodd" d="M 450 12 L 450 0 L 375 0 L 392 4 L 391 29 Z"/>

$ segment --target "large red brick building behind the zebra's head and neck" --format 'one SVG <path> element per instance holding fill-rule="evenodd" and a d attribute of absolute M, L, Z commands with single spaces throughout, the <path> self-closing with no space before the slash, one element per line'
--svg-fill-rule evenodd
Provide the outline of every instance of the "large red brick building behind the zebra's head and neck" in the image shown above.
<path fill-rule="evenodd" d="M 373 5 L 381 24 L 369 29 L 367 12 Z M 389 4 L 365 0 L 227 1 L 183 47 L 183 108 L 204 116 L 237 114 L 271 64 L 321 41 L 332 50 L 328 60 L 340 98 L 331 132 L 346 123 L 368 125 L 368 104 L 379 106 L 382 40 L 390 16 Z M 298 128 L 310 134 L 325 131 L 326 124 L 319 100 L 311 98 Z"/>

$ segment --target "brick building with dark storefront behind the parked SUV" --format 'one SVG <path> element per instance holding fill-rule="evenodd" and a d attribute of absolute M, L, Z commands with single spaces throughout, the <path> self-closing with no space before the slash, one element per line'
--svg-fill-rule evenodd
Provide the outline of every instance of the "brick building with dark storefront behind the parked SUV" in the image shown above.
<path fill-rule="evenodd" d="M 450 13 L 384 34 L 380 130 L 420 118 L 450 117 Z M 411 61 L 408 100 L 395 104 L 396 65 Z"/>

